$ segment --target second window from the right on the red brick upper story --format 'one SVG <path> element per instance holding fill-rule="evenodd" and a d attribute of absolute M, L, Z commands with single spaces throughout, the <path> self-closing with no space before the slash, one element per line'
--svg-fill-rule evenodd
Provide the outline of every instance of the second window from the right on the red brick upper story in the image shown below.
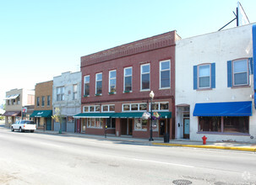
<path fill-rule="evenodd" d="M 140 89 L 150 90 L 150 64 L 140 66 Z"/>

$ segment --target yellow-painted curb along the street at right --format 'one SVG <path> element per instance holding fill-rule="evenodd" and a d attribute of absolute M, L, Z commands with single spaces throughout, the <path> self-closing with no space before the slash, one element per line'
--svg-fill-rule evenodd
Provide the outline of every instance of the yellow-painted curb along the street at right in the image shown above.
<path fill-rule="evenodd" d="M 208 148 L 221 149 L 230 151 L 253 151 L 256 152 L 256 147 L 239 147 L 239 146 L 222 146 L 222 145 L 182 145 L 182 144 L 168 144 L 168 143 L 152 143 L 152 145 L 166 145 L 166 146 L 182 146 L 192 148 Z"/>

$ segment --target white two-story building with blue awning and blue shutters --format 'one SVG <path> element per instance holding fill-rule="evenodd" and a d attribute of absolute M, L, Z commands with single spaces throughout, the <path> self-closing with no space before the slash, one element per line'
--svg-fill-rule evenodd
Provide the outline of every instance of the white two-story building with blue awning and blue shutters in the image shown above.
<path fill-rule="evenodd" d="M 255 35 L 248 24 L 177 40 L 177 139 L 256 142 Z"/>

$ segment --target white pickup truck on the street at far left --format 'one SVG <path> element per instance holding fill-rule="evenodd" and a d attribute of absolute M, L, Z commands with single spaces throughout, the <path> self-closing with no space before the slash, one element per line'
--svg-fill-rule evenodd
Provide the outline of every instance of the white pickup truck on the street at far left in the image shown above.
<path fill-rule="evenodd" d="M 19 132 L 24 132 L 24 131 L 30 131 L 34 132 L 36 129 L 35 127 L 35 122 L 34 121 L 29 121 L 29 120 L 19 120 L 16 121 L 15 124 L 12 124 L 11 130 L 19 130 Z"/>

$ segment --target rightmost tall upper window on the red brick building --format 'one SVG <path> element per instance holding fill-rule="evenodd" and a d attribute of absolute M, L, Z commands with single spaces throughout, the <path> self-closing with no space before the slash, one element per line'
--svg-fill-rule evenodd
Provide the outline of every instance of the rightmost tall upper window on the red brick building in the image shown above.
<path fill-rule="evenodd" d="M 171 61 L 160 62 L 160 88 L 171 87 Z"/>

